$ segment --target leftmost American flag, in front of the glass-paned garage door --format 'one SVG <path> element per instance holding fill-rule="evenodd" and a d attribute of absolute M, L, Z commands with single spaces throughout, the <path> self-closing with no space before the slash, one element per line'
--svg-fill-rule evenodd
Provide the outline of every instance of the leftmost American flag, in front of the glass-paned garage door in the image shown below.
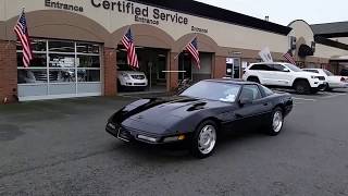
<path fill-rule="evenodd" d="M 26 25 L 26 19 L 24 11 L 22 12 L 17 24 L 14 26 L 14 33 L 17 35 L 21 45 L 23 47 L 23 63 L 25 68 L 28 68 L 33 60 L 33 51 L 30 47 L 29 33 Z"/>

